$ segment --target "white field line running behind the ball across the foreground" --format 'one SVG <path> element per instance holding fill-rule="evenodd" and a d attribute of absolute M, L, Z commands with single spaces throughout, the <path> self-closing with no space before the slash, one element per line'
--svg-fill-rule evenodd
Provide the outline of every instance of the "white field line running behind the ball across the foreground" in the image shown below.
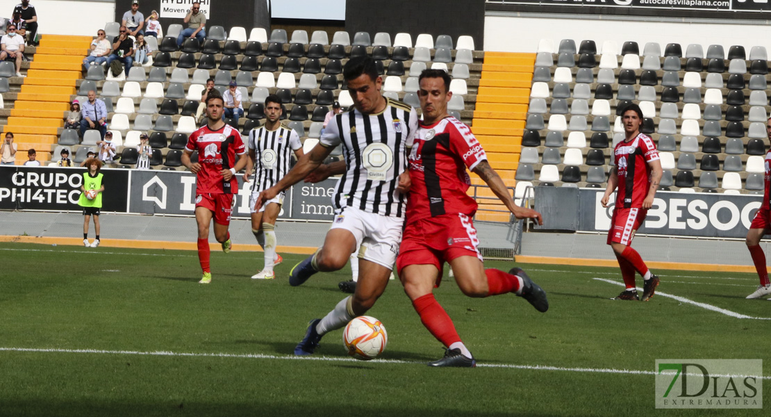
<path fill-rule="evenodd" d="M 233 353 L 192 353 L 175 351 L 109 351 L 102 349 L 60 349 L 60 348 L 0 348 L 0 351 L 32 352 L 32 353 L 68 353 L 68 354 L 93 354 L 93 355 L 139 355 L 139 356 L 173 356 L 188 358 L 237 358 L 237 359 L 269 359 L 276 361 L 318 361 L 318 362 L 361 362 L 354 358 L 338 358 L 329 356 L 294 356 L 294 355 L 263 355 L 263 354 L 233 354 Z M 399 359 L 373 359 L 367 363 L 374 364 L 407 364 L 425 365 L 425 362 L 401 361 Z M 640 371 L 637 369 L 615 368 L 570 368 L 550 365 L 514 365 L 514 364 L 477 364 L 477 368 L 508 368 L 525 369 L 531 371 L 556 371 L 556 372 L 581 372 L 621 375 L 656 375 L 653 371 Z M 691 374 L 689 374 L 691 375 Z M 693 374 L 702 376 L 701 374 Z M 763 375 L 713 375 L 744 377 L 753 376 L 758 379 L 771 379 L 771 376 Z"/>

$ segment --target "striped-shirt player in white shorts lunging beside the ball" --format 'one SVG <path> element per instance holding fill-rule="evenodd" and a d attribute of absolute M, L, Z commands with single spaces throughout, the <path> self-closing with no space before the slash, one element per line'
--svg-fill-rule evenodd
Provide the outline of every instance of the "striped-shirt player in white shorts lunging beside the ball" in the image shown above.
<path fill-rule="evenodd" d="M 318 169 L 314 177 L 344 173 L 332 197 L 335 220 L 324 246 L 292 268 L 289 284 L 299 285 L 317 271 L 338 271 L 359 251 L 359 281 L 352 296 L 324 318 L 312 320 L 295 355 L 311 355 L 322 335 L 364 314 L 388 284 L 396 261 L 409 190 L 407 150 L 418 127 L 415 109 L 380 94 L 382 78 L 370 57 L 352 58 L 343 68 L 355 109 L 335 116 L 320 143 L 303 156 L 277 185 L 263 191 L 258 207 Z M 322 165 L 342 144 L 345 163 Z"/>

